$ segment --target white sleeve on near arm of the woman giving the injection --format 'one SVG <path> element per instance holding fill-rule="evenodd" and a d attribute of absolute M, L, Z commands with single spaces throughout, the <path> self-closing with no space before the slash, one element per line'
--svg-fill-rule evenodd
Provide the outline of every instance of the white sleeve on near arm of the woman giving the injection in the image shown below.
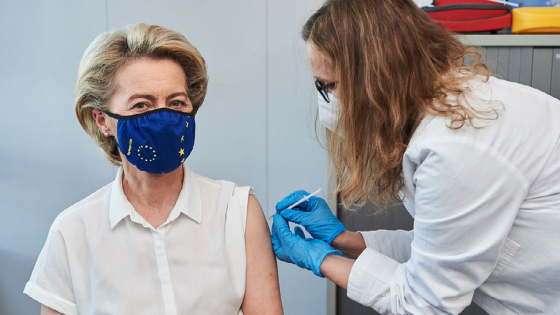
<path fill-rule="evenodd" d="M 496 267 L 529 183 L 469 138 L 431 140 L 412 156 L 410 259 L 400 263 L 383 245 L 366 249 L 352 268 L 348 297 L 382 314 L 458 314 Z"/>

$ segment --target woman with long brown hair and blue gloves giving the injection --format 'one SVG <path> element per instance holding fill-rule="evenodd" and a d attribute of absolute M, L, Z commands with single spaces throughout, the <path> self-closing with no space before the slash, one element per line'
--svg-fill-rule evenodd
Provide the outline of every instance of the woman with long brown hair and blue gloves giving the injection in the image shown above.
<path fill-rule="evenodd" d="M 317 197 L 282 210 L 295 192 L 278 258 L 382 314 L 558 314 L 560 101 L 490 76 L 410 0 L 328 0 L 302 37 L 343 205 L 403 202 L 414 230 L 345 231 Z"/>

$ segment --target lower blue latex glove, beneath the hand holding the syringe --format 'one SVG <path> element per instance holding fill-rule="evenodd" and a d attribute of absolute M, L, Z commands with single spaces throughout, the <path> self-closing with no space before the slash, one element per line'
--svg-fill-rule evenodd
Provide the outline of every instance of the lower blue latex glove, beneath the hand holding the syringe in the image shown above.
<path fill-rule="evenodd" d="M 311 270 L 315 275 L 324 278 L 319 267 L 325 256 L 328 254 L 342 256 L 341 251 L 334 250 L 323 241 L 305 238 L 299 227 L 295 229 L 296 234 L 292 233 L 288 222 L 281 215 L 275 214 L 273 220 L 272 247 L 278 259 Z"/>

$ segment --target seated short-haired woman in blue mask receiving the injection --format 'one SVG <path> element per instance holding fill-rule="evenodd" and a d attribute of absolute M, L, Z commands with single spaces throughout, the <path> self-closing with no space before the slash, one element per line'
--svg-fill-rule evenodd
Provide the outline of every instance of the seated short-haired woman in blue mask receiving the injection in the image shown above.
<path fill-rule="evenodd" d="M 186 164 L 208 78 L 184 36 L 137 24 L 96 38 L 76 114 L 121 166 L 53 223 L 25 293 L 41 314 L 282 314 L 270 232 L 250 187 Z"/>

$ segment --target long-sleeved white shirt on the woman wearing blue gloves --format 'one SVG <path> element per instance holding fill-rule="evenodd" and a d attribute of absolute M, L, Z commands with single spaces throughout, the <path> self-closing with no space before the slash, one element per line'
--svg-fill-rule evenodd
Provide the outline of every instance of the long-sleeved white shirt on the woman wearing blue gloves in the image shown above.
<path fill-rule="evenodd" d="M 414 230 L 362 232 L 349 298 L 382 314 L 458 314 L 471 301 L 560 314 L 560 101 L 496 78 L 475 85 L 502 103 L 499 119 L 423 120 L 403 159 Z"/>

